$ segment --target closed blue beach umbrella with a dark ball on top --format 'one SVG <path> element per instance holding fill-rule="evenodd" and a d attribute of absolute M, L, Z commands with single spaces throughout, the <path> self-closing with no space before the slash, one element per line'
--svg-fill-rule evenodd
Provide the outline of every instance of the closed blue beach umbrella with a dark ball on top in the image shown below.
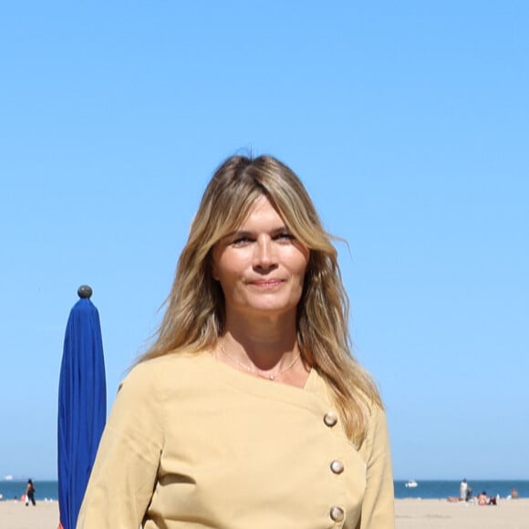
<path fill-rule="evenodd" d="M 75 529 L 107 419 L 107 383 L 98 309 L 82 285 L 67 321 L 58 389 L 57 469 L 60 523 Z"/>

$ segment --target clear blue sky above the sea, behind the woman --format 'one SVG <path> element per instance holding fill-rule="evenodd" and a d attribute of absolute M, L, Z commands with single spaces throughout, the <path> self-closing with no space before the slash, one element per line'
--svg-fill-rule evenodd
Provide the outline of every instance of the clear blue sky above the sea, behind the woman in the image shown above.
<path fill-rule="evenodd" d="M 338 244 L 400 479 L 529 478 L 529 5 L 0 8 L 0 478 L 56 478 L 57 380 L 94 289 L 109 405 L 205 183 L 271 153 Z"/>

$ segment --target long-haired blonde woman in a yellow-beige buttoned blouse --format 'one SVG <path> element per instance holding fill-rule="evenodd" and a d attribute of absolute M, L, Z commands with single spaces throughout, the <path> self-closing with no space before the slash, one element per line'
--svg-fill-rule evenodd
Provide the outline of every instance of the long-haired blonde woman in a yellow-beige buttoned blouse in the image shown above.
<path fill-rule="evenodd" d="M 234 156 L 202 197 L 150 350 L 121 384 L 80 528 L 386 529 L 379 393 L 296 175 Z"/>

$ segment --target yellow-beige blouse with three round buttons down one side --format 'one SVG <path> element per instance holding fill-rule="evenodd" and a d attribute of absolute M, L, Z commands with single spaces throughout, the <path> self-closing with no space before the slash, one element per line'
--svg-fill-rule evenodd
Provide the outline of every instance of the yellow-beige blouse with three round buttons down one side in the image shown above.
<path fill-rule="evenodd" d="M 383 411 L 347 440 L 313 369 L 303 389 L 211 355 L 133 368 L 99 445 L 78 529 L 392 529 Z"/>

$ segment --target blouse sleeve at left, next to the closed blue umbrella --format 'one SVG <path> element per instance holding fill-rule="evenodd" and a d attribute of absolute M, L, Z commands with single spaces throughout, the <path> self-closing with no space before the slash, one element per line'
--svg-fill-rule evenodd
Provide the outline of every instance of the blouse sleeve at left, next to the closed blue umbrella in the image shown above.
<path fill-rule="evenodd" d="M 163 445 L 155 377 L 140 364 L 120 385 L 78 515 L 78 529 L 137 528 L 155 487 Z"/>

